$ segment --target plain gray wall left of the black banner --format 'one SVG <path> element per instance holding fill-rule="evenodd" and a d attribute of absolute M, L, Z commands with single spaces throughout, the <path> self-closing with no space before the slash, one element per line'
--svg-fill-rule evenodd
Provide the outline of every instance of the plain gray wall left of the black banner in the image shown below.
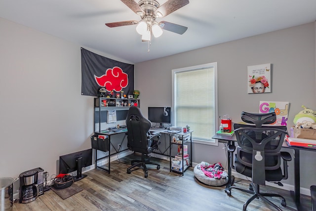
<path fill-rule="evenodd" d="M 37 167 L 56 174 L 60 155 L 91 148 L 81 46 L 2 18 L 0 32 L 0 177 Z"/>

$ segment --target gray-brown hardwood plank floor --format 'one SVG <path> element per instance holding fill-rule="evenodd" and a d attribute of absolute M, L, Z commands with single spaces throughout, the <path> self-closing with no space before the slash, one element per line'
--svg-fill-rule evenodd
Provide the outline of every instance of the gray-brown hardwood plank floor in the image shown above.
<path fill-rule="evenodd" d="M 169 162 L 151 158 L 160 163 L 160 169 L 148 165 L 148 178 L 142 169 L 126 173 L 130 161 L 138 159 L 138 154 L 129 155 L 111 163 L 111 174 L 92 169 L 88 176 L 76 182 L 83 191 L 65 200 L 49 190 L 28 204 L 13 204 L 13 211 L 240 211 L 249 194 L 232 190 L 228 196 L 225 187 L 204 185 L 195 178 L 193 168 L 184 176 L 169 172 Z M 249 182 L 238 180 L 236 186 L 248 187 Z M 276 192 L 286 199 L 283 211 L 296 211 L 296 206 L 288 191 L 273 187 L 263 187 L 261 192 Z M 278 198 L 270 198 L 277 206 Z M 302 196 L 302 210 L 311 211 L 311 197 Z M 255 199 L 247 211 L 274 210 L 262 200 Z M 302 211 L 300 210 L 300 211 Z"/>

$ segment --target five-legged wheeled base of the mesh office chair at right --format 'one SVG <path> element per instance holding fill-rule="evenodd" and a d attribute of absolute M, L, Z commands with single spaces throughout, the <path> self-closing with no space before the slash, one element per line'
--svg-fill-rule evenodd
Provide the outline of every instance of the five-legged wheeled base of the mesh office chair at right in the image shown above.
<path fill-rule="evenodd" d="M 264 202 L 268 203 L 269 205 L 273 206 L 274 208 L 276 208 L 276 210 L 278 211 L 282 211 L 279 207 L 277 207 L 275 204 L 273 204 L 271 201 L 269 201 L 266 197 L 280 197 L 282 199 L 281 201 L 281 205 L 283 207 L 286 207 L 286 202 L 283 196 L 279 195 L 279 194 L 274 194 L 274 193 L 260 193 L 259 190 L 259 185 L 258 184 L 253 184 L 250 183 L 249 185 L 249 190 L 246 189 L 242 189 L 242 188 L 238 188 L 236 186 L 231 186 L 229 187 L 229 189 L 226 191 L 228 196 L 231 196 L 231 190 L 232 189 L 237 189 L 246 193 L 250 193 L 253 194 L 244 204 L 243 204 L 243 211 L 246 211 L 247 206 L 254 200 L 254 199 L 262 199 Z"/>

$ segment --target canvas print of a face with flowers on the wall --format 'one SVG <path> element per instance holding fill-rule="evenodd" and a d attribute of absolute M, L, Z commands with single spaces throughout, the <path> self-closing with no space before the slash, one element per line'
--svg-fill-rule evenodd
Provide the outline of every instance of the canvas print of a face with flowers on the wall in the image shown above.
<path fill-rule="evenodd" d="M 271 92 L 271 64 L 248 66 L 248 94 Z"/>

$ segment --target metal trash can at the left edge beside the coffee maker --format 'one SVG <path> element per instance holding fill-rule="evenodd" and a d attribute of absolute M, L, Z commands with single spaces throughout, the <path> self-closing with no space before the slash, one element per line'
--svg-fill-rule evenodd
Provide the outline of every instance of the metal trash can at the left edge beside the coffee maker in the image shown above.
<path fill-rule="evenodd" d="M 0 211 L 10 211 L 13 205 L 13 182 L 11 177 L 0 178 Z"/>

